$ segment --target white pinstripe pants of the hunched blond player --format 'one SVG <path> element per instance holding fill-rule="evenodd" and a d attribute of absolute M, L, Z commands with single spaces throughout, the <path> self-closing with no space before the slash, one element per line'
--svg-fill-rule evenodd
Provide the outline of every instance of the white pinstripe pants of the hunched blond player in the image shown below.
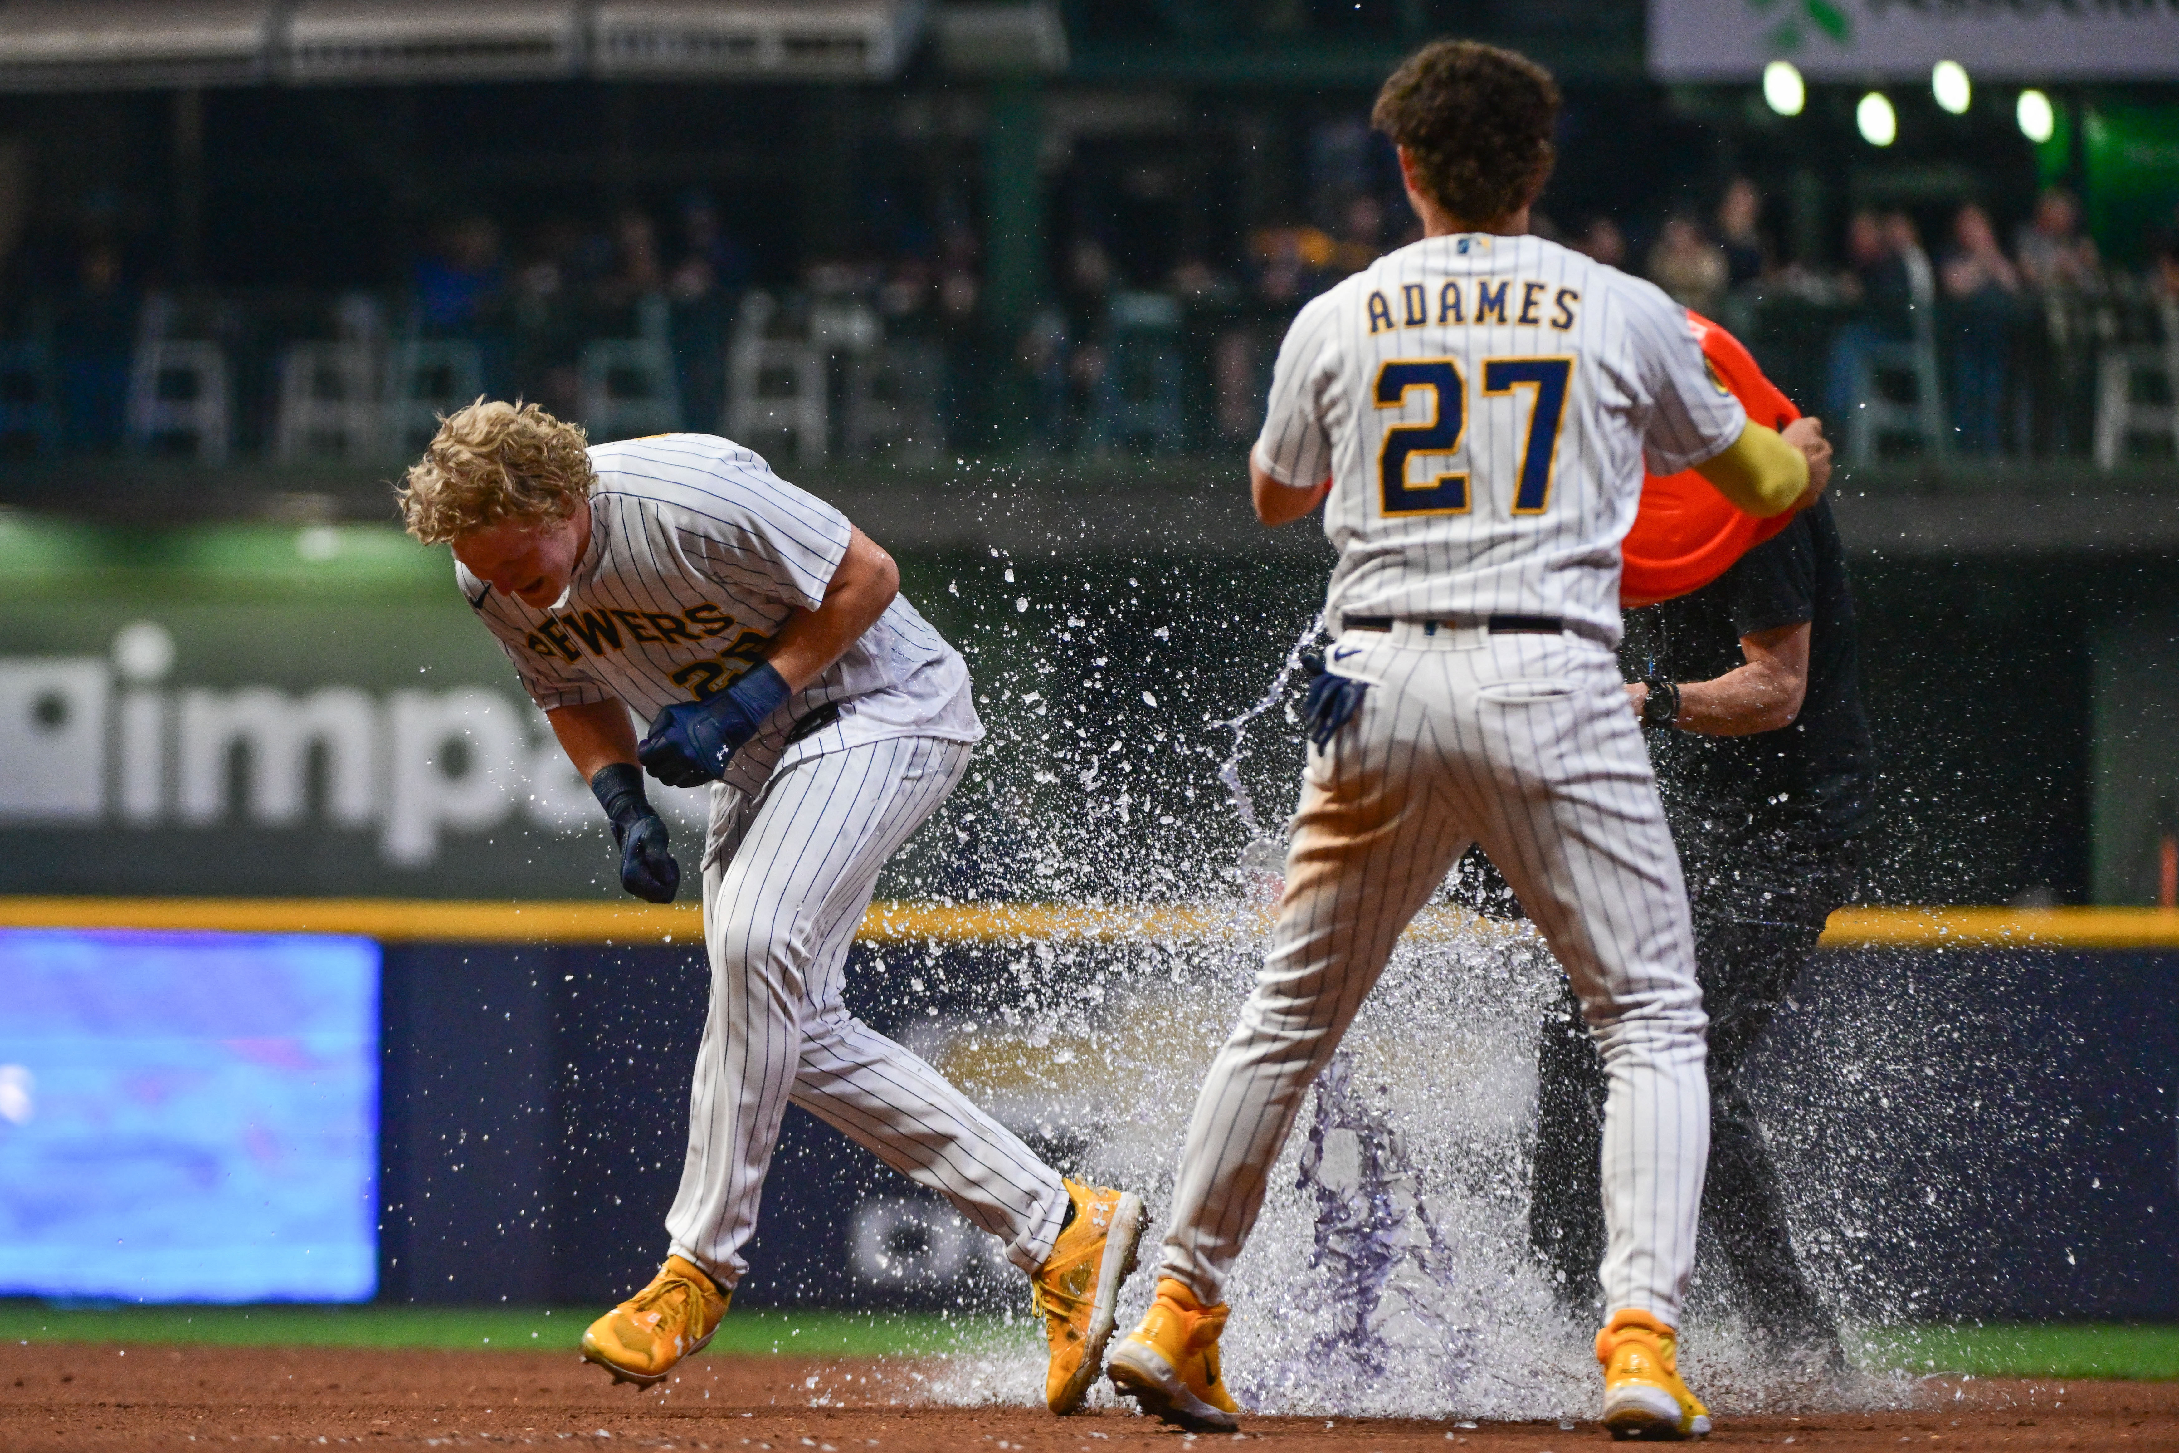
<path fill-rule="evenodd" d="M 710 1017 L 689 1094 L 689 1159 L 667 1213 L 673 1253 L 721 1285 L 747 1268 L 787 1104 L 939 1192 L 1033 1272 L 1066 1218 L 1059 1172 L 937 1070 L 841 1004 L 848 948 L 878 869 L 946 799 L 970 747 L 896 736 L 804 758 L 728 793 L 704 865 Z"/>

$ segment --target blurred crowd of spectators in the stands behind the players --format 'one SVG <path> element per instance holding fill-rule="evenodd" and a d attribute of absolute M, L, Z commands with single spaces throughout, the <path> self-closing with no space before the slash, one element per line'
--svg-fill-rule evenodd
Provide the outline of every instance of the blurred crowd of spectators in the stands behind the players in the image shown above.
<path fill-rule="evenodd" d="M 290 377 L 305 366 L 296 346 L 338 338 L 353 357 L 373 359 L 355 366 L 366 381 L 351 392 L 407 394 L 425 377 L 416 359 L 438 359 L 442 390 L 521 394 L 564 416 L 588 414 L 599 434 L 636 418 L 599 416 L 599 399 L 617 388 L 614 370 L 641 375 L 647 355 L 630 353 L 641 344 L 667 359 L 658 373 L 669 375 L 641 414 L 645 431 L 665 423 L 765 434 L 787 420 L 787 447 L 804 455 L 1225 449 L 1253 434 L 1294 309 L 1408 242 L 1412 231 L 1401 229 L 1412 222 L 1403 209 L 1397 218 L 1360 194 L 1334 227 L 1262 227 L 1238 255 L 1185 255 L 1157 279 L 1124 277 L 1105 240 L 1074 235 L 1052 253 L 1046 303 L 1026 327 L 1005 329 L 987 316 L 981 246 L 967 229 L 944 231 L 922 257 L 826 261 L 804 268 L 793 290 L 758 290 L 747 248 L 702 192 L 665 220 L 630 209 L 593 229 L 543 222 L 512 244 L 488 216 L 451 216 L 431 229 L 399 292 L 340 305 L 144 296 L 122 251 L 89 242 L 65 277 L 15 309 L 11 340 L 0 342 L 0 447 L 157 447 L 150 434 L 168 416 L 144 396 L 168 388 L 166 368 L 181 392 L 218 388 L 222 401 L 231 392 L 233 407 L 222 403 L 205 427 L 238 449 L 275 453 L 275 438 L 303 438 L 294 447 L 303 449 L 316 436 L 283 431 L 277 418 L 312 388 Z M 1560 229 L 1538 213 L 1536 231 L 1641 272 L 1732 327 L 1789 394 L 1833 420 L 1835 436 L 1857 416 L 1909 420 L 1891 438 L 1872 429 L 1861 440 L 1867 453 L 2087 455 L 2107 405 L 2098 390 L 2118 377 L 2120 392 L 2144 392 L 2138 375 L 2101 364 L 2114 351 L 2170 349 L 2179 331 L 2175 235 L 2153 240 L 2146 272 L 2111 268 L 2064 190 L 2042 194 L 2009 248 L 1981 205 L 1959 205 L 1935 257 L 1904 209 L 1854 211 L 1843 266 L 1830 270 L 1780 261 L 1765 222 L 1758 187 L 1734 179 L 1708 216 L 1667 216 L 1641 248 L 1610 216 Z M 200 338 L 214 351 L 190 355 L 194 375 L 174 351 L 146 364 L 157 338 Z M 621 351 L 601 353 L 601 340 Z M 205 357 L 224 359 L 227 373 L 207 381 Z M 410 373 L 386 362 L 394 357 L 407 357 Z M 2162 386 L 2146 379 L 2151 401 L 2170 396 L 2164 373 Z M 821 394 L 815 412 L 782 403 L 795 390 L 804 405 Z M 445 401 L 458 403 L 451 392 Z M 889 418 L 874 423 L 872 412 Z M 198 444 L 190 447 L 205 453 Z M 351 455 L 403 447 L 399 429 L 327 444 Z M 288 442 L 279 451 L 292 457 Z"/>

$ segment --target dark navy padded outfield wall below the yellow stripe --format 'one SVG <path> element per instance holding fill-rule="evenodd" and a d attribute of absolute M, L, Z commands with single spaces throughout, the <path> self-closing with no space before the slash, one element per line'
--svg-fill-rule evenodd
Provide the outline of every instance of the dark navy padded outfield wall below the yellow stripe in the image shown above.
<path fill-rule="evenodd" d="M 1015 993 L 998 950 L 856 952 L 850 1006 L 887 1033 Z M 695 945 L 390 945 L 381 1296 L 588 1305 L 638 1285 L 665 1255 L 704 993 Z M 2179 1318 L 2179 954 L 1822 952 L 1750 1074 L 1795 1233 L 1852 1259 L 1835 1283 L 1867 1268 L 1918 1316 Z M 974 1259 L 859 1274 L 856 1218 L 880 1202 L 944 1220 L 791 1113 L 743 1303 L 1007 1296 Z"/>

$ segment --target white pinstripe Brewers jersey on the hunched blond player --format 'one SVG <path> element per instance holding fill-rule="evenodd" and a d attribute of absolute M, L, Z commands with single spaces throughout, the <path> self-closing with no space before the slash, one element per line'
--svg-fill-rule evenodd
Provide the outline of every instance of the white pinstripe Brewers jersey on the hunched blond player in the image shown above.
<path fill-rule="evenodd" d="M 723 691 L 763 658 L 791 610 L 817 610 L 848 549 L 848 516 L 708 434 L 593 444 L 591 545 L 547 610 L 455 564 L 462 595 L 540 708 L 619 697 L 649 721 Z M 789 745 L 824 706 L 839 721 Z M 795 693 L 728 762 L 756 791 L 780 762 L 889 736 L 974 743 L 967 667 L 906 597 Z"/>

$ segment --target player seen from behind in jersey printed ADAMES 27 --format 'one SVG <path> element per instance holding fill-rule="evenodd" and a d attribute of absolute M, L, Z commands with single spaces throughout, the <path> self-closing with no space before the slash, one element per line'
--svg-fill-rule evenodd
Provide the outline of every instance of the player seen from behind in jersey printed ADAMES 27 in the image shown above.
<path fill-rule="evenodd" d="M 1706 1433 L 1680 1303 L 1708 1155 L 1680 858 L 1619 684 L 1619 540 L 1643 466 L 1750 514 L 1813 503 L 1830 451 L 1721 390 L 1663 292 L 1530 237 L 1558 89 L 1440 41 L 1384 85 L 1425 237 L 1331 288 L 1279 349 L 1251 453 L 1266 525 L 1325 505 L 1336 638 L 1255 991 L 1196 1098 L 1157 1298 L 1111 1355 L 1148 1412 L 1231 1429 L 1222 1290 L 1301 1100 L 1392 945 L 1482 843 L 1565 965 L 1604 1111 L 1606 1427 Z"/>

